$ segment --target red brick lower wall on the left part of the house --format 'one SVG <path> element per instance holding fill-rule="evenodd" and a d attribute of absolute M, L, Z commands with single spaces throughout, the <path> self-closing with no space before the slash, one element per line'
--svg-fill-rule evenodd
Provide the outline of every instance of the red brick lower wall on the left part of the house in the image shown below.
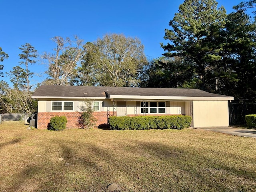
<path fill-rule="evenodd" d="M 113 112 L 112 112 L 113 113 Z M 112 114 L 111 113 L 111 114 Z M 93 112 L 94 117 L 97 119 L 96 126 L 108 123 L 108 114 L 104 111 Z M 50 119 L 54 116 L 66 116 L 68 128 L 79 128 L 78 118 L 79 112 L 38 112 L 37 114 L 37 128 L 47 129 Z"/>

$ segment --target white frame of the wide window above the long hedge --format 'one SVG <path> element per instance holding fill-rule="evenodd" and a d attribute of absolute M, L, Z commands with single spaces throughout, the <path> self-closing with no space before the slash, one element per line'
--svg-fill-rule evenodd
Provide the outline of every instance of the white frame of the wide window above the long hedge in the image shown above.
<path fill-rule="evenodd" d="M 151 105 L 152 103 L 152 105 Z M 156 106 L 153 104 L 156 103 Z M 159 103 L 164 103 L 163 106 L 159 106 Z M 166 101 L 145 101 L 145 107 L 143 107 L 143 101 L 140 102 L 140 114 L 143 113 L 143 108 L 145 108 L 145 114 L 166 114 Z M 156 112 L 151 112 L 156 109 Z M 164 109 L 164 112 L 159 112 L 159 109 Z"/>

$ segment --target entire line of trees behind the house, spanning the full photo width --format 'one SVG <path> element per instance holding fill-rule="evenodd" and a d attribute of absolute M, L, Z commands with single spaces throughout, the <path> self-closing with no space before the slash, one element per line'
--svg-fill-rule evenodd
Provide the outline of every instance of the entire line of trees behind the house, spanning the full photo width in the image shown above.
<path fill-rule="evenodd" d="M 256 22 L 247 14 L 255 0 L 234 6 L 226 14 L 215 0 L 185 0 L 165 30 L 163 56 L 148 60 L 138 38 L 106 34 L 95 42 L 54 37 L 55 48 L 41 57 L 48 77 L 40 84 L 200 88 L 208 92 L 251 99 L 256 96 Z M 254 12 L 252 12 L 254 14 Z M 12 88 L 0 82 L 2 112 L 31 113 L 30 64 L 37 50 L 29 43 L 20 47 L 20 65 L 8 76 Z M 0 62 L 8 59 L 0 48 Z"/>

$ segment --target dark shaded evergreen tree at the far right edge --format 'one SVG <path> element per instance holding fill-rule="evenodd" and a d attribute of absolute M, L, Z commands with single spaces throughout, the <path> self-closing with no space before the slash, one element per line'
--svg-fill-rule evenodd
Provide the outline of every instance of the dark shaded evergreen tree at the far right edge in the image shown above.
<path fill-rule="evenodd" d="M 223 37 L 222 67 L 225 67 L 226 87 L 236 98 L 256 96 L 256 24 L 243 11 L 227 16 Z M 228 78 L 228 79 L 227 79 Z"/>

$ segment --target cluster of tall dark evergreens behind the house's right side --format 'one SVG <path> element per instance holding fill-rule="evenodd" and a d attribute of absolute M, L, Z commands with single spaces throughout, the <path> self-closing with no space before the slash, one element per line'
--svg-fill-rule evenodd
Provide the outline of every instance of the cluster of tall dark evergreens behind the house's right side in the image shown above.
<path fill-rule="evenodd" d="M 165 30 L 164 57 L 151 62 L 144 86 L 254 98 L 256 23 L 246 9 L 255 5 L 255 0 L 242 2 L 227 15 L 214 0 L 185 0 Z"/>

